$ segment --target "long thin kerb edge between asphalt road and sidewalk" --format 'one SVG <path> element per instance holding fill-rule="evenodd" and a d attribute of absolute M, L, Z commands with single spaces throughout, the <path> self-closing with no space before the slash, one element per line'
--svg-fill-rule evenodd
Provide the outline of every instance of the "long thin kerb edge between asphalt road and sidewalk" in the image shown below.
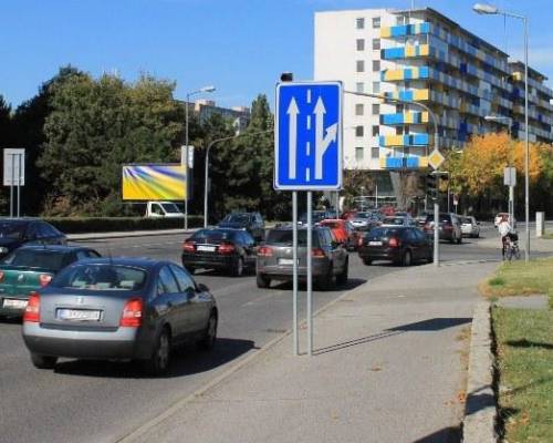
<path fill-rule="evenodd" d="M 344 292 L 342 296 L 337 297 L 336 299 L 330 301 L 325 306 L 319 308 L 316 311 L 313 312 L 313 317 L 317 317 L 322 312 L 324 312 L 326 309 L 330 309 L 332 306 L 337 303 L 338 301 L 343 300 L 344 298 L 351 296 L 353 292 L 361 290 L 365 285 L 367 285 L 368 281 L 349 289 L 348 291 Z M 306 320 L 303 320 L 300 322 L 300 327 L 304 326 L 306 323 Z M 131 443 L 135 439 L 146 434 L 148 431 L 157 426 L 158 424 L 163 423 L 165 420 L 169 419 L 173 416 L 175 413 L 177 413 L 184 405 L 190 403 L 198 396 L 202 395 L 210 389 L 217 387 L 219 383 L 222 383 L 225 380 L 227 380 L 230 375 L 233 373 L 238 372 L 242 368 L 246 368 L 249 363 L 251 363 L 253 360 L 259 358 L 260 356 L 264 354 L 272 348 L 274 348 L 278 343 L 280 343 L 282 340 L 284 340 L 288 336 L 292 333 L 292 330 L 289 329 L 285 332 L 281 333 L 280 336 L 275 337 L 272 339 L 269 343 L 263 346 L 261 349 L 259 349 L 257 352 L 247 354 L 242 359 L 240 359 L 237 363 L 234 363 L 231 368 L 228 370 L 223 371 L 221 374 L 217 375 L 213 378 L 211 381 L 209 381 L 207 384 L 204 387 L 197 389 L 192 393 L 188 394 L 184 399 L 177 400 L 175 403 L 173 403 L 168 409 L 166 409 L 164 412 L 161 412 L 159 415 L 153 418 L 148 422 L 142 424 L 140 426 L 136 427 L 134 431 L 128 432 L 127 434 L 118 437 L 115 442 L 116 443 Z M 299 356 L 301 357 L 301 356 Z"/>

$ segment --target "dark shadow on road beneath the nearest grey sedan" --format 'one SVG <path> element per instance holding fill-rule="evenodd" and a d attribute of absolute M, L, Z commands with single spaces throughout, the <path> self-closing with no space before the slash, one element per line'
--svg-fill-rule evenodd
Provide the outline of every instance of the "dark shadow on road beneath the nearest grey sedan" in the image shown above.
<path fill-rule="evenodd" d="M 177 349 L 171 354 L 169 370 L 161 378 L 177 378 L 207 372 L 238 359 L 251 349 L 251 340 L 219 338 L 210 352 L 198 351 L 192 346 Z M 65 375 L 102 377 L 113 379 L 146 379 L 138 362 L 100 360 L 71 360 L 59 362 L 55 372 Z"/>

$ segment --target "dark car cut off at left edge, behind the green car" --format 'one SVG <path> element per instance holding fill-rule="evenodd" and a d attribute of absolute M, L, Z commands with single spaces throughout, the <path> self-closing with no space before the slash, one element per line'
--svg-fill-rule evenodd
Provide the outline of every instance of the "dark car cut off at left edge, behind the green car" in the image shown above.
<path fill-rule="evenodd" d="M 65 234 L 34 218 L 0 219 L 0 258 L 24 244 L 65 245 Z"/>

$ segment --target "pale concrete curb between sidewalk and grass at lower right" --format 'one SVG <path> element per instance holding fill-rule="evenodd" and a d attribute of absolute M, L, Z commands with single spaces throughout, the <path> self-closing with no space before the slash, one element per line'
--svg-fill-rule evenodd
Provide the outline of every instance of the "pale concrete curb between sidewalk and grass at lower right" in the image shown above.
<path fill-rule="evenodd" d="M 490 302 L 481 300 L 474 309 L 470 337 L 467 405 L 462 426 L 463 443 L 495 443 L 498 408 L 493 392 Z"/>

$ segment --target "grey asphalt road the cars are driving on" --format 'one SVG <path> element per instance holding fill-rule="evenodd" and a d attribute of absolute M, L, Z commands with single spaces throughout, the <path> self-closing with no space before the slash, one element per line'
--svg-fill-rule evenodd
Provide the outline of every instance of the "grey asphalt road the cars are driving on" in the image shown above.
<path fill-rule="evenodd" d="M 484 227 L 483 235 L 497 236 L 492 227 Z M 181 240 L 179 236 L 150 236 L 80 244 L 114 257 L 146 256 L 179 262 Z M 444 262 L 499 258 L 498 249 L 478 247 L 477 241 L 441 244 Z M 364 266 L 351 253 L 348 285 L 315 291 L 314 308 L 397 270 L 385 264 Z M 258 289 L 253 275 L 232 278 L 208 271 L 196 279 L 218 300 L 218 342 L 210 353 L 195 349 L 179 352 L 167 377 L 160 379 L 145 378 L 131 363 L 119 362 L 62 360 L 55 371 L 36 370 L 22 342 L 20 323 L 0 322 L 0 442 L 115 442 L 292 326 L 291 285 Z"/>

